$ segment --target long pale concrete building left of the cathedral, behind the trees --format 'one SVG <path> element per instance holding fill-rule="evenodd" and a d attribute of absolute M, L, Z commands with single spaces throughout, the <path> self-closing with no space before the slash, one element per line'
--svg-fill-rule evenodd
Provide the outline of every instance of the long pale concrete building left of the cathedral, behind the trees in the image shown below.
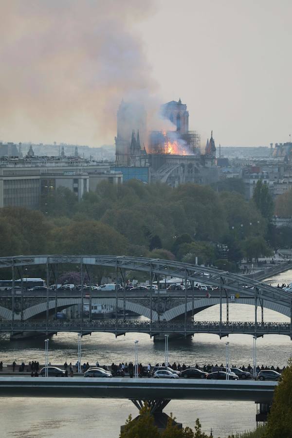
<path fill-rule="evenodd" d="M 80 158 L 30 157 L 0 160 L 0 207 L 37 208 L 42 195 L 67 187 L 80 201 L 101 181 L 123 182 L 121 171 L 109 164 Z"/>

